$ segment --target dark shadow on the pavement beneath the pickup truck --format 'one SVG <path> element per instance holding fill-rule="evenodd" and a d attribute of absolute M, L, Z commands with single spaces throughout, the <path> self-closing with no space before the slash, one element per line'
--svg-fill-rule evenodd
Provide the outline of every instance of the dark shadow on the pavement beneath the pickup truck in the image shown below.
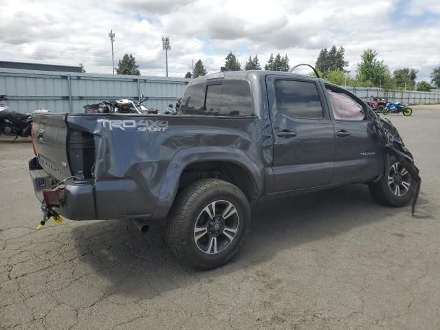
<path fill-rule="evenodd" d="M 72 221 L 80 263 L 91 269 L 80 281 L 101 287 L 116 301 L 152 298 L 159 292 L 212 281 L 310 241 L 343 234 L 396 212 L 371 199 L 364 185 L 265 201 L 254 207 L 252 229 L 241 253 L 217 270 L 198 272 L 179 264 L 163 241 L 163 228 L 142 234 L 130 221 Z"/>

